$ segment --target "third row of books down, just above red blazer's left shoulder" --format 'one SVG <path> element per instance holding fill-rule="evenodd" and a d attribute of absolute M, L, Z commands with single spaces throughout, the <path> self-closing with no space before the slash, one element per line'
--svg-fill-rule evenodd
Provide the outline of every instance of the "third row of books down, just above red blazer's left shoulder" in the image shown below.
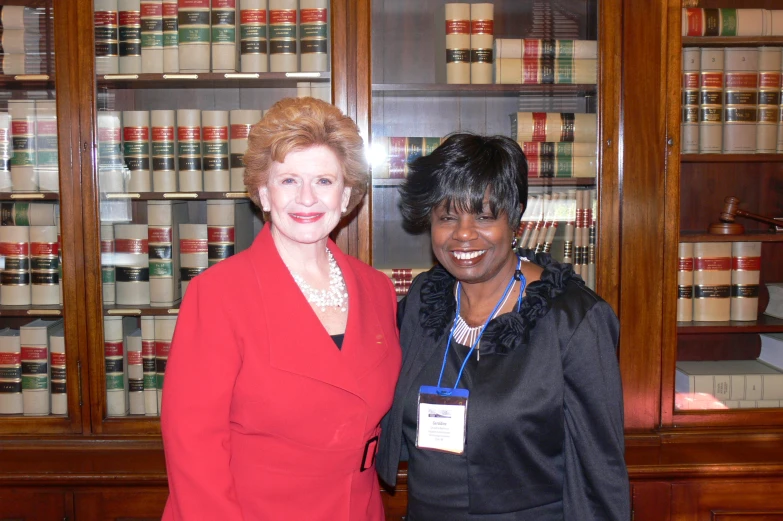
<path fill-rule="evenodd" d="M 208 200 L 206 223 L 189 221 L 185 201 L 148 201 L 146 224 L 102 224 L 104 304 L 174 306 L 194 277 L 253 242 L 246 200 Z"/>

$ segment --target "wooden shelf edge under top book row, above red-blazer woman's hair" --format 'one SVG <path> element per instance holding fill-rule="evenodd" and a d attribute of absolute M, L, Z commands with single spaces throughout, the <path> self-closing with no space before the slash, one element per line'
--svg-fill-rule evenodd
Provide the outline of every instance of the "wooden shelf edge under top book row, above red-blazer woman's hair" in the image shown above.
<path fill-rule="evenodd" d="M 106 74 L 98 76 L 98 87 L 114 89 L 211 89 L 211 88 L 296 88 L 297 82 L 326 83 L 328 72 L 258 72 L 181 74 Z"/>

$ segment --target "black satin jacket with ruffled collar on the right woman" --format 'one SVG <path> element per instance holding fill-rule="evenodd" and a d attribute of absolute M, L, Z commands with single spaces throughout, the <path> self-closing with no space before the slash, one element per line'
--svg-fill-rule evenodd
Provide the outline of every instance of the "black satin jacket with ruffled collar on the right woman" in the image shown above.
<path fill-rule="evenodd" d="M 530 260 L 544 266 L 541 280 L 528 285 L 518 313 L 493 320 L 482 338 L 467 416 L 469 513 L 562 501 L 557 519 L 626 521 L 617 317 L 570 265 L 543 255 Z M 454 283 L 435 267 L 414 280 L 399 305 L 403 365 L 376 463 L 390 485 L 407 459 L 404 397 L 424 364 L 442 360 Z"/>

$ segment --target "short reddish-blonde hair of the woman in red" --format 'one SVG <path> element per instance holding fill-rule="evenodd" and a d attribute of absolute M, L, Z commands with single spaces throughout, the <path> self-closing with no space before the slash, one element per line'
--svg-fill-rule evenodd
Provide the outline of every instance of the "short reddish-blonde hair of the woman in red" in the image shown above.
<path fill-rule="evenodd" d="M 340 161 L 351 197 L 350 213 L 367 192 L 369 181 L 364 142 L 359 127 L 340 109 L 315 98 L 284 98 L 253 125 L 245 152 L 245 186 L 260 207 L 258 190 L 266 185 L 272 163 L 285 161 L 289 152 L 323 145 Z"/>

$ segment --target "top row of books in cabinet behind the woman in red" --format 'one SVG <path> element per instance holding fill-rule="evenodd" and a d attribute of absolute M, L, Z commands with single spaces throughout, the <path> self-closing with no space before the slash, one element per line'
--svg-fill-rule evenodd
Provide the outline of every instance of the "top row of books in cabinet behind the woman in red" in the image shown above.
<path fill-rule="evenodd" d="M 328 0 L 95 0 L 98 74 L 321 72 Z M 238 11 L 238 12 L 237 12 Z"/>

